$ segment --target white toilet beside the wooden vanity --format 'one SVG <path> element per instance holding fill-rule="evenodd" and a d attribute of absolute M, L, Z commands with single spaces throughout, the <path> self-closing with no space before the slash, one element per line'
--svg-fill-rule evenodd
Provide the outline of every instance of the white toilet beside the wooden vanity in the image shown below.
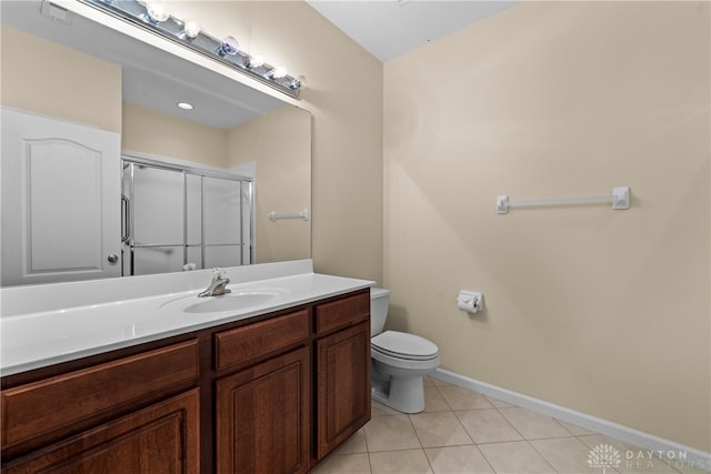
<path fill-rule="evenodd" d="M 440 365 L 437 345 L 419 335 L 382 329 L 390 290 L 370 289 L 372 399 L 402 413 L 424 410 L 422 377 Z"/>

